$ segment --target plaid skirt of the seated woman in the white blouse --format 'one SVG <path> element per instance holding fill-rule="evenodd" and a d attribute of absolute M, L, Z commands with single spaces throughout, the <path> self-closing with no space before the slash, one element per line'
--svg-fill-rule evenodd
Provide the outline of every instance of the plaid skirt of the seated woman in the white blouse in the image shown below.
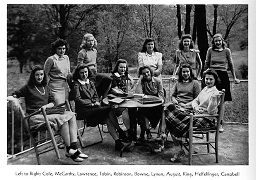
<path fill-rule="evenodd" d="M 170 104 L 165 110 L 165 122 L 170 134 L 174 136 L 176 140 L 186 142 L 186 138 L 189 135 L 189 114 L 192 110 L 179 107 L 174 104 Z M 207 118 L 194 118 L 194 127 L 212 127 L 214 123 Z"/>

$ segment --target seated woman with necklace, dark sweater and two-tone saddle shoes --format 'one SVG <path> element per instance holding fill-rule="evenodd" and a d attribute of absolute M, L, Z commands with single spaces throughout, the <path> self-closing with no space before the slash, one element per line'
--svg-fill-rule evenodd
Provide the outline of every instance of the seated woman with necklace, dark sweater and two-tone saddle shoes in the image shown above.
<path fill-rule="evenodd" d="M 13 97 L 24 97 L 26 102 L 26 112 L 34 113 L 39 109 L 50 108 L 55 105 L 54 96 L 46 85 L 46 75 L 40 65 L 32 68 L 28 83 L 20 90 L 12 93 Z M 50 124 L 54 125 L 55 131 L 60 131 L 60 135 L 66 145 L 66 156 L 72 158 L 75 162 L 82 162 L 88 158 L 86 154 L 78 147 L 76 113 L 65 111 L 63 115 L 47 115 Z M 45 123 L 42 114 L 34 115 L 29 119 L 32 127 L 40 127 Z"/>

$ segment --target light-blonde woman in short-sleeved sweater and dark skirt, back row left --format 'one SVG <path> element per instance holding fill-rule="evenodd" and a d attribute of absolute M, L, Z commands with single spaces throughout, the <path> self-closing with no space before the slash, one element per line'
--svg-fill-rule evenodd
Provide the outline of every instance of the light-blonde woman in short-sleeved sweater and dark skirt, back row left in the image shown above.
<path fill-rule="evenodd" d="M 80 47 L 82 48 L 78 52 L 77 63 L 88 65 L 90 71 L 92 71 L 92 81 L 96 87 L 98 96 L 102 99 L 107 97 L 108 91 L 111 87 L 112 79 L 102 73 L 97 73 L 97 56 L 98 51 L 94 48 L 97 46 L 97 41 L 92 34 L 85 34 Z"/>

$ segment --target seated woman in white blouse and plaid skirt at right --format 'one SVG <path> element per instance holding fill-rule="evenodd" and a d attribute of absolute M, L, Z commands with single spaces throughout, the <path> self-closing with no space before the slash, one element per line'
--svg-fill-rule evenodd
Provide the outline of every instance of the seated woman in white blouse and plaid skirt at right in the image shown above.
<path fill-rule="evenodd" d="M 204 75 L 203 80 L 207 85 L 199 93 L 198 97 L 191 102 L 194 114 L 215 114 L 217 107 L 220 104 L 220 91 L 216 88 L 216 84 L 220 82 L 218 74 L 212 69 L 208 69 Z M 188 103 L 186 105 L 189 105 Z M 182 142 L 186 142 L 189 130 L 189 114 L 181 111 L 176 105 L 169 105 L 164 110 L 166 127 L 172 135 L 174 141 L 175 153 L 170 162 L 177 162 L 181 156 L 185 154 L 182 149 Z M 210 127 L 214 126 L 212 118 L 195 118 L 193 120 L 194 126 Z"/>

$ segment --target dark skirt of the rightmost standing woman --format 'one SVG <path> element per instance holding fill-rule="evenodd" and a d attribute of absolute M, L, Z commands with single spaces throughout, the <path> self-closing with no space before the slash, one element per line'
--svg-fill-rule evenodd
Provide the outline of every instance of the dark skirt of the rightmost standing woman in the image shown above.
<path fill-rule="evenodd" d="M 216 88 L 221 91 L 225 89 L 224 101 L 232 101 L 231 92 L 230 92 L 230 81 L 227 71 L 218 71 L 215 70 L 218 76 L 220 77 L 220 84 L 216 85 Z"/>

